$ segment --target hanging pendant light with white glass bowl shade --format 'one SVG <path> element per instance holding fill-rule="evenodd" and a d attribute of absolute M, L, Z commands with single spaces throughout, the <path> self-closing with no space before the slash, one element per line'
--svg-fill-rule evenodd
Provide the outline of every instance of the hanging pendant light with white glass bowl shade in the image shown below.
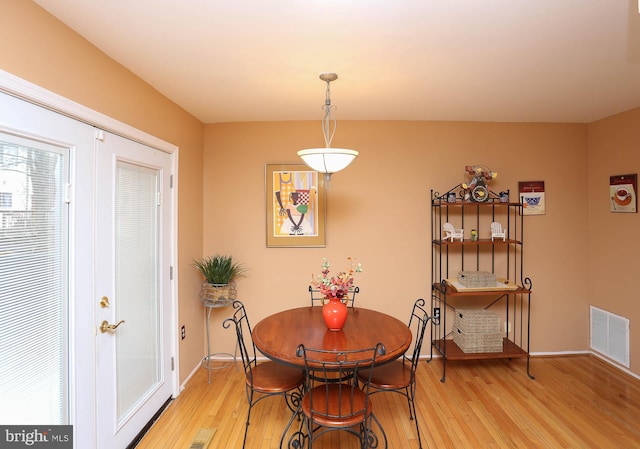
<path fill-rule="evenodd" d="M 331 148 L 331 141 L 336 133 L 337 122 L 333 116 L 334 106 L 331 105 L 329 84 L 331 81 L 337 80 L 338 75 L 335 73 L 322 73 L 320 79 L 327 83 L 327 96 L 323 106 L 324 117 L 322 119 L 322 134 L 324 135 L 325 147 L 300 150 L 298 151 L 298 156 L 313 170 L 324 173 L 326 187 L 330 188 L 331 175 L 347 168 L 358 156 L 358 152 L 345 148 Z"/>

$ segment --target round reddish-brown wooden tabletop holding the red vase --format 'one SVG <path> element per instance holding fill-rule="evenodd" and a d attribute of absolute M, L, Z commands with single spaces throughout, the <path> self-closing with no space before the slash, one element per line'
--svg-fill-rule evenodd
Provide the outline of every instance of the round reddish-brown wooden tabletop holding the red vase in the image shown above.
<path fill-rule="evenodd" d="M 385 346 L 376 365 L 395 360 L 409 348 L 411 330 L 402 321 L 375 310 L 348 308 L 347 322 L 341 331 L 330 331 L 322 319 L 322 307 L 285 310 L 260 321 L 252 331 L 256 347 L 269 359 L 304 368 L 304 359 L 296 349 L 354 350 Z"/>

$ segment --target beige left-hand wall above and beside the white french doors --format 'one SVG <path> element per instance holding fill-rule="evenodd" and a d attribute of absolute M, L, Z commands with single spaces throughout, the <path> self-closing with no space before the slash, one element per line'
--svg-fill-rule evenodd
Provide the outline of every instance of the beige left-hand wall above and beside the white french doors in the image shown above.
<path fill-rule="evenodd" d="M 0 16 L 0 69 L 180 148 L 179 322 L 188 332 L 180 344 L 183 381 L 203 353 L 201 307 L 183 299 L 198 294 L 190 263 L 202 251 L 202 123 L 34 3 L 2 0 Z"/>

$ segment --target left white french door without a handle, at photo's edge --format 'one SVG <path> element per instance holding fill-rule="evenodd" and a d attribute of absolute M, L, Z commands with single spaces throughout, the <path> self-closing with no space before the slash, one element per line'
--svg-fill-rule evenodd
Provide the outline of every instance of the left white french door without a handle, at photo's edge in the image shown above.
<path fill-rule="evenodd" d="M 0 141 L 2 420 L 72 424 L 91 448 L 94 129 L 0 93 Z"/>

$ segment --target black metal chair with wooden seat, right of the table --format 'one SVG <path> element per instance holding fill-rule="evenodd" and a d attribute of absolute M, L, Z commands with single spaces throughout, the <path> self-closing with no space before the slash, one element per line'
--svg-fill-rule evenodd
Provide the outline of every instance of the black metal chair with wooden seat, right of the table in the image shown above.
<path fill-rule="evenodd" d="M 361 383 L 370 382 L 373 391 L 371 394 L 391 391 L 400 393 L 407 398 L 409 405 L 409 419 L 414 420 L 416 424 L 416 433 L 418 437 L 418 447 L 422 448 L 422 440 L 420 438 L 420 427 L 416 416 L 416 368 L 422 348 L 425 330 L 431 317 L 425 310 L 424 299 L 418 299 L 413 304 L 411 316 L 409 317 L 409 328 L 414 336 L 414 345 L 412 351 L 407 351 L 402 358 L 382 366 L 378 366 L 373 371 L 363 370 L 358 373 L 358 380 Z"/>

